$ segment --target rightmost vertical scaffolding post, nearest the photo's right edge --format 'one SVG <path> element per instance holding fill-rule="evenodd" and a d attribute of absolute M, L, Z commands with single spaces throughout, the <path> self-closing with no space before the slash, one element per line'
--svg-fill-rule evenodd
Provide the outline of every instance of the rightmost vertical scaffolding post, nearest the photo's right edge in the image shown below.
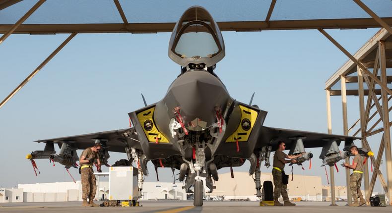
<path fill-rule="evenodd" d="M 387 67 L 385 55 L 385 43 L 379 42 L 379 55 L 380 55 L 380 71 L 381 81 L 384 86 L 387 86 Z M 387 165 L 387 183 L 388 183 L 388 200 L 390 206 L 392 205 L 392 154 L 391 154 L 391 133 L 390 121 L 388 113 L 388 94 L 386 90 L 381 90 L 381 100 L 383 102 L 383 124 L 384 124 L 384 146 L 385 146 L 385 161 Z"/>

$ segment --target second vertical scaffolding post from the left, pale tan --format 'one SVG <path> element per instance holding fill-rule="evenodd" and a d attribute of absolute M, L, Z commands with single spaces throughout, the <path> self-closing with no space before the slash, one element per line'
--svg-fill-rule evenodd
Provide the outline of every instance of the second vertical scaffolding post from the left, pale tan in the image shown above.
<path fill-rule="evenodd" d="M 347 97 L 346 97 L 346 79 L 343 75 L 340 76 L 341 85 L 341 100 L 342 100 L 342 115 L 343 115 L 343 134 L 348 136 L 348 124 L 347 124 Z M 349 162 L 349 157 L 345 159 L 346 163 Z M 345 169 L 346 172 L 346 187 L 347 187 L 347 203 L 351 204 L 351 191 L 350 191 L 350 170 Z"/>

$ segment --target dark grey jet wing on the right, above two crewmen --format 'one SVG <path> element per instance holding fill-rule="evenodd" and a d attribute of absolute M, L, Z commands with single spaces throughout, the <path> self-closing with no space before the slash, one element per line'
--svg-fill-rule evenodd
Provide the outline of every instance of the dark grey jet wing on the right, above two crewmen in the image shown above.
<path fill-rule="evenodd" d="M 291 130 L 291 129 L 280 129 L 280 128 L 272 128 L 261 126 L 261 134 L 259 138 L 259 142 L 269 143 L 272 145 L 273 150 L 276 148 L 276 145 L 279 141 L 284 141 L 287 147 L 291 147 L 291 143 L 294 141 L 292 138 L 303 137 L 303 144 L 305 148 L 316 148 L 323 147 L 328 139 L 339 139 L 341 141 L 354 141 L 360 140 L 358 137 L 350 137 L 343 135 L 331 135 L 325 133 L 317 133 L 317 132 L 306 132 L 299 130 Z M 340 143 L 340 141 L 338 141 Z"/>

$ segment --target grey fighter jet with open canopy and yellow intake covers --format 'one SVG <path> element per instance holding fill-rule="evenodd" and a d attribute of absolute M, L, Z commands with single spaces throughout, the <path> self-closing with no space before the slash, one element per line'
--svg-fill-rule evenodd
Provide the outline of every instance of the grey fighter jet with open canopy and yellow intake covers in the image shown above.
<path fill-rule="evenodd" d="M 102 164 L 108 165 L 109 152 L 126 153 L 125 164 L 135 162 L 139 197 L 141 177 L 149 174 L 147 162 L 151 161 L 156 169 L 180 170 L 178 179 L 185 183 L 184 189 L 194 193 L 195 206 L 202 206 L 203 186 L 212 192 L 220 168 L 241 166 L 245 160 L 250 161 L 249 174 L 255 175 L 256 195 L 261 197 L 261 163 L 270 165 L 270 153 L 279 141 L 290 148 L 290 155 L 303 154 L 297 164 L 313 157 L 305 148 L 321 147 L 323 165 L 332 166 L 349 156 L 347 148 L 359 139 L 264 126 L 267 112 L 252 101 L 246 104 L 232 98 L 214 72 L 225 56 L 225 45 L 217 23 L 203 7 L 193 6 L 183 13 L 173 29 L 168 53 L 181 66 L 181 73 L 161 101 L 129 113 L 133 127 L 38 140 L 46 144 L 45 149 L 27 158 L 49 158 L 76 168 L 76 150 L 101 143 Z M 342 152 L 341 142 L 345 145 Z"/>

